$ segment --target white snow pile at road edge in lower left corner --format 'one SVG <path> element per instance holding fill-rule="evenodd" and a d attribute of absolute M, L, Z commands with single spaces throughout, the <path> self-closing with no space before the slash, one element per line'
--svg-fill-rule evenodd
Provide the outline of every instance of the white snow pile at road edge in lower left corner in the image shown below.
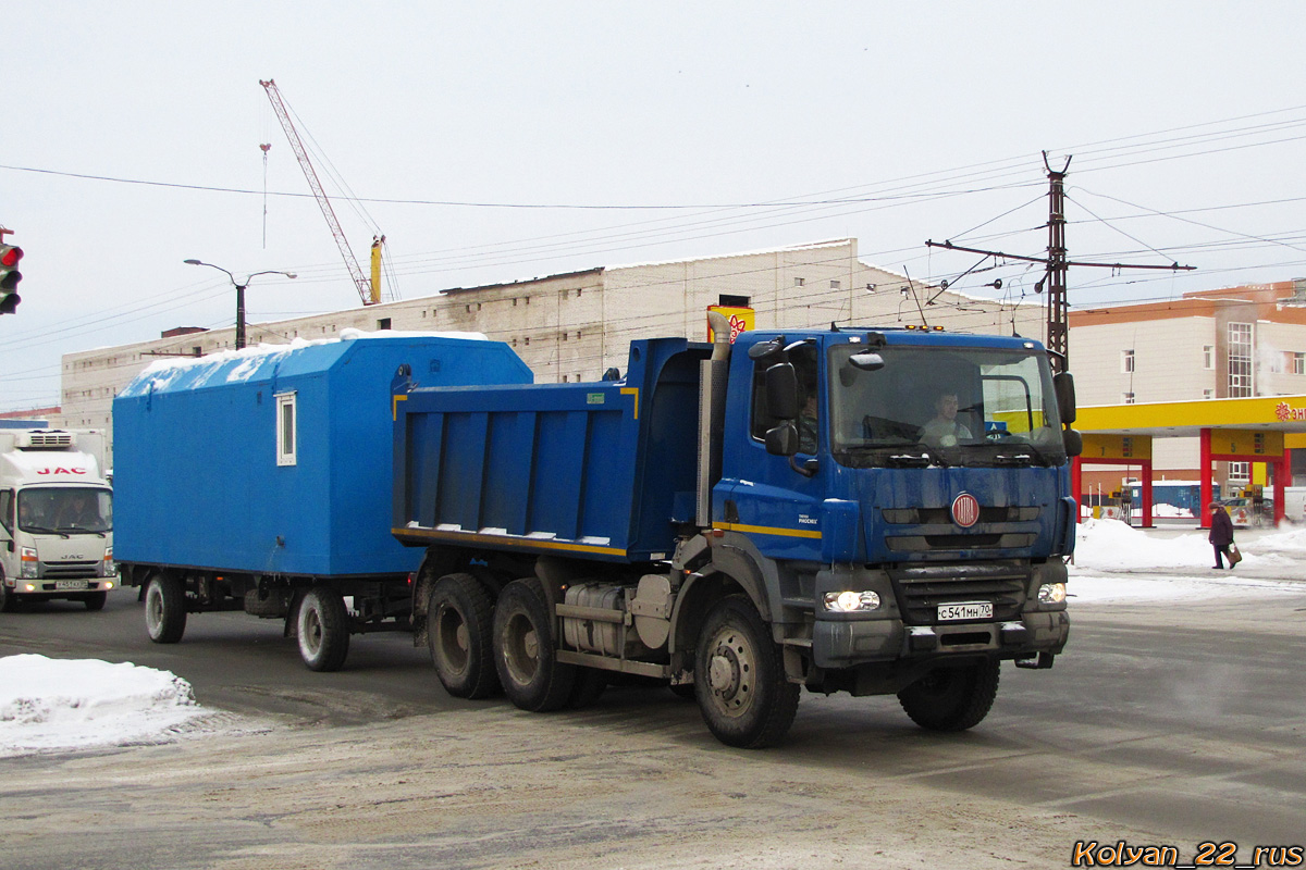
<path fill-rule="evenodd" d="M 0 758 L 157 741 L 205 715 L 191 685 L 131 663 L 0 659 Z"/>

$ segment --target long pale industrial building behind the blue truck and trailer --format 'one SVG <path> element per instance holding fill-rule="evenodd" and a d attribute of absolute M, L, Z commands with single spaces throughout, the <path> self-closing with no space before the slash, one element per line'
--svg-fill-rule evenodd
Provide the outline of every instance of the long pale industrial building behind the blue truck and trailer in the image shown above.
<path fill-rule="evenodd" d="M 1041 338 L 1045 309 L 940 291 L 870 263 L 855 239 L 701 260 L 603 266 L 504 284 L 445 290 L 343 312 L 249 323 L 249 344 L 329 339 L 342 329 L 483 333 L 507 342 L 537 382 L 597 381 L 624 372 L 632 339 L 707 340 L 709 305 L 755 310 L 757 329 L 942 326 Z M 51 425 L 112 432 L 118 391 L 150 363 L 229 350 L 235 329 L 171 330 L 136 344 L 68 353 L 61 412 Z"/>

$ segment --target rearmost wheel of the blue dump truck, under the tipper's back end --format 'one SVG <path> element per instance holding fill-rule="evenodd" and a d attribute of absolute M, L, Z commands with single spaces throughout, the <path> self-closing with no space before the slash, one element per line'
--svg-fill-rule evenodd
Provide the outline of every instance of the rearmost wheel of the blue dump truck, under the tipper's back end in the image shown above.
<path fill-rule="evenodd" d="M 494 599 L 470 574 L 448 574 L 431 587 L 426 605 L 431 663 L 454 698 L 499 693 L 494 664 Z"/>

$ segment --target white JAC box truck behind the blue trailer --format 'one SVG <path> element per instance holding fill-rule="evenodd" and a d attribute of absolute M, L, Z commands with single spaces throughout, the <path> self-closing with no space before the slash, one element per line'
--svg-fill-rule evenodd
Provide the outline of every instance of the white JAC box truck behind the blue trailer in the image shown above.
<path fill-rule="evenodd" d="M 0 610 L 69 599 L 104 607 L 118 586 L 104 434 L 0 429 Z"/>

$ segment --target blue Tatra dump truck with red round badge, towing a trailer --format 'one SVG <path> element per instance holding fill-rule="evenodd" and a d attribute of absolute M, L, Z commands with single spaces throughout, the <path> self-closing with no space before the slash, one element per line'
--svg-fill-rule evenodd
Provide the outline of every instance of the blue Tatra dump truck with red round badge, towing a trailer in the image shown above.
<path fill-rule="evenodd" d="M 597 383 L 398 369 L 392 531 L 426 548 L 411 621 L 448 691 L 549 711 L 661 681 L 761 747 L 803 687 L 960 730 L 1003 660 L 1050 668 L 1070 374 L 1023 338 L 714 331 L 635 342 Z"/>

